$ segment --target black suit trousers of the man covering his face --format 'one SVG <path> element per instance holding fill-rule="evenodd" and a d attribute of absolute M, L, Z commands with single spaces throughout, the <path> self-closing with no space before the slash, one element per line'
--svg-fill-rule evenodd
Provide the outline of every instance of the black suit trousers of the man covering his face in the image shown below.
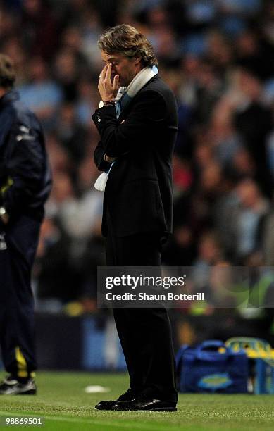
<path fill-rule="evenodd" d="M 159 235 L 116 237 L 108 230 L 108 266 L 160 266 Z M 163 401 L 177 401 L 175 358 L 166 308 L 116 308 L 113 315 L 125 355 L 130 387 Z"/>

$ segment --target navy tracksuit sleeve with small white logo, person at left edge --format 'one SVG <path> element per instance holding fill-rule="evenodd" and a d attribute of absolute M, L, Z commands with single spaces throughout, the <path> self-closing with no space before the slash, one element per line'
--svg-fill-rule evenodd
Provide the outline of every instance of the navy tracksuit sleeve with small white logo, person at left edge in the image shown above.
<path fill-rule="evenodd" d="M 26 207 L 44 184 L 46 158 L 44 137 L 39 126 L 30 127 L 16 120 L 8 137 L 6 187 L 0 201 L 10 215 Z"/>

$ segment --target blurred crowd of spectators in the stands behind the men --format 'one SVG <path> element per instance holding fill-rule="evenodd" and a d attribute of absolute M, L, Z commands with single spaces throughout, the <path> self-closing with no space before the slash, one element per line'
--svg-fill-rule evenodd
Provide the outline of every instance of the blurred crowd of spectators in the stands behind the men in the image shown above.
<path fill-rule="evenodd" d="M 46 133 L 54 188 L 35 265 L 41 308 L 96 308 L 104 265 L 96 41 L 127 23 L 154 45 L 178 101 L 168 266 L 274 266 L 274 2 L 1 0 L 0 50 Z M 78 308 L 77 308 L 78 309 Z M 75 311 L 76 313 L 77 311 Z"/>

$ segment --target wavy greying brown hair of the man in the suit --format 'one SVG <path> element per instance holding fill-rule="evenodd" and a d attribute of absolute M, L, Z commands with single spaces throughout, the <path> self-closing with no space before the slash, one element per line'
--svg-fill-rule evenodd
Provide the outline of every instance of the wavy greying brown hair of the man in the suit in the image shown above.
<path fill-rule="evenodd" d="M 101 51 L 107 54 L 122 54 L 125 57 L 141 57 L 142 65 L 158 65 L 154 48 L 147 37 L 127 24 L 116 25 L 101 35 L 98 41 Z"/>

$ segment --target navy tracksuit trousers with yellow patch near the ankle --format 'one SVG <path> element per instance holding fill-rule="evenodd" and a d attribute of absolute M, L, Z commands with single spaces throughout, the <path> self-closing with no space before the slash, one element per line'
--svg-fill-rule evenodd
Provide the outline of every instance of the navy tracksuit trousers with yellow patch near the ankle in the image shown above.
<path fill-rule="evenodd" d="M 39 226 L 38 221 L 21 216 L 0 232 L 4 234 L 0 240 L 1 354 L 6 371 L 19 378 L 37 368 L 30 279 Z"/>

